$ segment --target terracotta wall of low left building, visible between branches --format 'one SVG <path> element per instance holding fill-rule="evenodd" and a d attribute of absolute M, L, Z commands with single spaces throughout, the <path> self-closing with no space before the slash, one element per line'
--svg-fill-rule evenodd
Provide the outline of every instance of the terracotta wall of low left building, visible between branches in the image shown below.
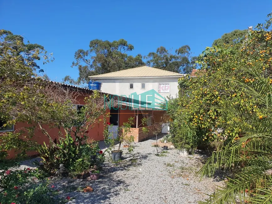
<path fill-rule="evenodd" d="M 78 105 L 85 105 L 85 102 L 84 102 L 85 96 L 82 95 L 77 97 Z M 106 110 L 106 113 L 109 113 L 109 109 Z M 103 116 L 101 116 L 101 119 L 102 118 Z M 109 122 L 109 117 L 107 118 L 106 122 Z M 24 127 L 27 127 L 27 126 L 30 126 L 30 124 L 27 124 L 24 122 L 18 122 L 14 125 L 14 132 L 19 132 L 20 130 L 22 130 Z M 55 138 L 57 138 L 57 140 L 59 139 L 58 128 L 50 129 L 48 126 L 43 126 L 43 127 L 50 134 L 53 140 Z M 95 141 L 104 140 L 103 131 L 104 131 L 104 126 L 103 126 L 103 121 L 101 121 L 99 124 L 96 124 L 92 129 L 89 129 L 88 136 L 90 139 L 93 139 Z M 61 132 L 62 132 L 62 136 L 64 137 L 65 136 L 64 130 L 62 129 Z M 1 136 L 3 136 L 4 134 L 5 132 L 0 132 Z M 31 140 L 36 140 L 39 144 L 43 144 L 43 142 L 45 142 L 46 144 L 49 143 L 49 138 L 38 129 L 35 130 L 34 136 L 31 138 Z M 17 152 L 15 150 L 10 151 L 8 158 L 13 158 L 16 153 Z M 32 156 L 34 154 L 37 154 L 37 152 L 35 151 L 28 152 L 29 156 Z"/>

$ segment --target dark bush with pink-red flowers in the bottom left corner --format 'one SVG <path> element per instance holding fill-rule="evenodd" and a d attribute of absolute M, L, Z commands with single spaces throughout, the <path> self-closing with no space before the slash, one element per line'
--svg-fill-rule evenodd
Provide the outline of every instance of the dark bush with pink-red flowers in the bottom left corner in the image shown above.
<path fill-rule="evenodd" d="M 45 174 L 38 169 L 17 170 L 19 164 L 1 161 L 0 201 L 2 204 L 56 204 L 65 203 L 58 199 L 58 192 L 50 187 Z"/>

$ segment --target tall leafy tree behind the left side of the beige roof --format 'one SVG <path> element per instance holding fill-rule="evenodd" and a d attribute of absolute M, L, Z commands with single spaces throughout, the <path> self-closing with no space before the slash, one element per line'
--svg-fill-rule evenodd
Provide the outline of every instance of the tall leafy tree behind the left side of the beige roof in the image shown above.
<path fill-rule="evenodd" d="M 77 80 L 66 76 L 63 80 L 69 83 L 87 83 L 88 76 L 115 72 L 145 65 L 142 56 L 129 56 L 134 46 L 124 39 L 114 40 L 91 40 L 90 49 L 79 49 L 75 52 L 75 61 L 72 67 L 77 67 L 79 77 Z"/>

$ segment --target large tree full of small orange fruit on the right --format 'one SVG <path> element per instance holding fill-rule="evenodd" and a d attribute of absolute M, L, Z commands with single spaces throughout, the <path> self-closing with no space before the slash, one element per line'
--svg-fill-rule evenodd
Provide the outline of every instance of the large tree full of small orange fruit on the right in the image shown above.
<path fill-rule="evenodd" d="M 224 99 L 246 106 L 260 117 L 265 115 L 259 111 L 255 99 L 227 77 L 253 83 L 256 79 L 245 72 L 245 68 L 265 77 L 272 74 L 270 24 L 271 18 L 265 24 L 258 24 L 256 30 L 248 31 L 248 35 L 233 45 L 207 47 L 198 57 L 200 70 L 196 77 L 187 75 L 179 79 L 178 107 L 174 111 L 178 114 L 172 115 L 196 129 L 204 143 L 215 139 L 225 143 L 235 141 L 242 133 L 241 127 L 234 125 L 240 118 L 220 114 L 217 110 L 216 106 L 222 105 Z"/>

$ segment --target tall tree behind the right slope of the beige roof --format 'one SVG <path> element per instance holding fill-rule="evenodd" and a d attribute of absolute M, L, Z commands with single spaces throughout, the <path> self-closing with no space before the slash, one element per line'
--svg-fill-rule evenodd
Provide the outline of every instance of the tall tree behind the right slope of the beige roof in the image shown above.
<path fill-rule="evenodd" d="M 190 73 L 196 60 L 196 57 L 190 55 L 191 49 L 188 45 L 176 49 L 175 54 L 161 46 L 156 52 L 149 52 L 144 58 L 147 59 L 147 65 L 151 67 L 170 72 Z"/>

